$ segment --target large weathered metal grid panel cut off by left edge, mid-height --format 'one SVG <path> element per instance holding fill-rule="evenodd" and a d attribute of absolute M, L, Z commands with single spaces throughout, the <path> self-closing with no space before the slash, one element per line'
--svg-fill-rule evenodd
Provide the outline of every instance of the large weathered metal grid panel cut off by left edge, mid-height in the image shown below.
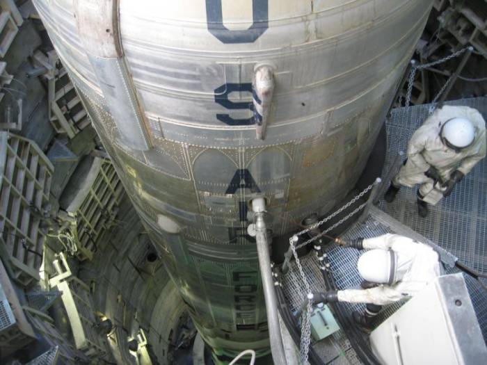
<path fill-rule="evenodd" d="M 53 166 L 26 138 L 0 132 L 0 254 L 13 279 L 39 279 Z"/>

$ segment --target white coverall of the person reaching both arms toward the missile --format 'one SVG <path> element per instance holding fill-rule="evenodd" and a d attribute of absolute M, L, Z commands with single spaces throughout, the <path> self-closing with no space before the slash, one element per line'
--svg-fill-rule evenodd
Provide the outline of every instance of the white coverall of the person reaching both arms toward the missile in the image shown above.
<path fill-rule="evenodd" d="M 380 284 L 372 289 L 337 291 L 339 302 L 386 305 L 411 297 L 441 275 L 438 253 L 429 245 L 399 234 L 384 234 L 363 241 L 364 249 L 392 250 L 397 255 L 396 277 L 392 285 Z"/>

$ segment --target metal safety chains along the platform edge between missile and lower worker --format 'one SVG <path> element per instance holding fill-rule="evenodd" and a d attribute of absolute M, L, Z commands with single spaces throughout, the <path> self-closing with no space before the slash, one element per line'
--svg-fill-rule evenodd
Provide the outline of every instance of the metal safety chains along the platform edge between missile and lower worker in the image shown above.
<path fill-rule="evenodd" d="M 363 197 L 365 194 L 367 194 L 372 188 L 374 187 L 374 183 L 370 184 L 362 190 L 358 195 L 353 197 L 349 202 L 344 204 L 340 209 L 337 209 L 337 211 L 334 211 L 331 213 L 329 216 L 324 218 L 323 220 L 320 220 L 319 222 L 315 223 L 314 225 L 310 225 L 310 227 L 307 227 L 306 229 L 303 229 L 301 232 L 298 232 L 294 234 L 291 238 L 289 238 L 289 248 L 292 250 L 292 254 L 294 256 L 294 260 L 296 261 L 296 266 L 298 267 L 299 275 L 301 276 L 301 279 L 303 280 L 303 284 L 305 286 L 305 292 L 307 294 L 307 300 L 308 302 L 306 303 L 306 309 L 303 311 L 303 315 L 301 316 L 301 343 L 300 343 L 300 364 L 301 365 L 306 365 L 308 364 L 308 352 L 310 348 L 310 343 L 311 343 L 311 324 L 310 324 L 310 318 L 311 318 L 311 313 L 312 313 L 312 302 L 313 302 L 313 294 L 311 292 L 310 284 L 308 283 L 308 279 L 306 278 L 306 275 L 303 270 L 303 266 L 301 265 L 301 261 L 299 260 L 298 257 L 298 252 L 297 250 L 299 248 L 304 247 L 305 245 L 308 245 L 308 243 L 311 243 L 313 241 L 316 241 L 319 237 L 324 236 L 324 234 L 330 232 L 331 230 L 335 229 L 339 225 L 342 225 L 343 222 L 346 220 L 349 220 L 351 216 L 354 216 L 358 211 L 363 209 L 367 203 L 362 203 L 360 206 L 358 206 L 356 209 L 351 211 L 349 214 L 344 216 L 344 218 L 340 219 L 338 222 L 335 224 L 331 225 L 327 229 L 325 229 L 323 232 L 320 234 L 317 234 L 316 236 L 313 236 L 312 238 L 308 239 L 308 241 L 305 241 L 301 243 L 300 245 L 295 245 L 298 241 L 299 238 L 298 236 L 301 236 L 305 233 L 310 232 L 312 229 L 315 229 L 319 227 L 320 225 L 323 225 L 325 222 L 328 222 L 330 219 L 334 218 L 338 214 L 340 214 L 342 211 L 345 209 L 349 208 L 353 203 L 357 202 L 361 197 Z M 287 265 L 289 265 L 289 260 L 290 257 L 285 258 L 285 262 L 287 261 Z M 291 267 L 291 266 L 289 266 Z"/>

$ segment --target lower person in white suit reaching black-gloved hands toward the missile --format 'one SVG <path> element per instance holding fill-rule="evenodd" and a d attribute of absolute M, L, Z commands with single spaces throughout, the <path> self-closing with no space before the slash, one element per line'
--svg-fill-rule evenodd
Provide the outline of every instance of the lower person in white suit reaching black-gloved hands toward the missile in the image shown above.
<path fill-rule="evenodd" d="M 358 238 L 346 247 L 369 250 L 357 262 L 364 279 L 362 289 L 346 289 L 314 293 L 314 304 L 320 302 L 367 303 L 365 312 L 352 316 L 362 329 L 369 329 L 383 305 L 410 298 L 441 275 L 440 257 L 433 248 L 399 234 L 375 238 Z"/>

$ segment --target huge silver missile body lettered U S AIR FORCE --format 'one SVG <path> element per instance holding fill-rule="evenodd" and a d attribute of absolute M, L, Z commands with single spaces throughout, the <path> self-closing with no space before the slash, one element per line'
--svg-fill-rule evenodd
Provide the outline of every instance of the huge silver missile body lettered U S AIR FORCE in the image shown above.
<path fill-rule="evenodd" d="M 120 1 L 121 79 L 143 102 L 145 150 L 127 143 L 130 120 L 113 113 L 127 103 L 106 97 L 121 79 L 93 68 L 72 5 L 34 3 L 203 339 L 217 355 L 265 353 L 247 204 L 264 195 L 280 236 L 346 195 L 432 1 Z M 265 140 L 251 107 L 259 63 L 276 67 Z"/>

